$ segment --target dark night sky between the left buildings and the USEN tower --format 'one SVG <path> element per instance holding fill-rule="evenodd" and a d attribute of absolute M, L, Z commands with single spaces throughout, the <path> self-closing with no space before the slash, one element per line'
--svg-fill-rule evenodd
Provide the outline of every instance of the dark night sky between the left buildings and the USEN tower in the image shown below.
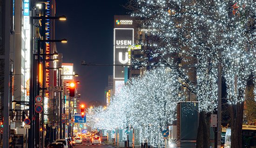
<path fill-rule="evenodd" d="M 56 21 L 56 39 L 67 38 L 58 44 L 63 62 L 74 63 L 74 71 L 81 101 L 105 103 L 104 89 L 113 67 L 82 66 L 81 61 L 113 63 L 114 15 L 127 15 L 123 7 L 128 0 L 56 0 L 56 16 L 65 15 L 67 21 Z"/>

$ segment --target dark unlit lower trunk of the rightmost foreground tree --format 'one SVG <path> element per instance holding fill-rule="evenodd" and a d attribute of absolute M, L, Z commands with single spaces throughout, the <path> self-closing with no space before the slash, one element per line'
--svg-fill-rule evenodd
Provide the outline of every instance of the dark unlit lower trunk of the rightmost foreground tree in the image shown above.
<path fill-rule="evenodd" d="M 231 148 L 242 148 L 243 102 L 230 106 Z"/>

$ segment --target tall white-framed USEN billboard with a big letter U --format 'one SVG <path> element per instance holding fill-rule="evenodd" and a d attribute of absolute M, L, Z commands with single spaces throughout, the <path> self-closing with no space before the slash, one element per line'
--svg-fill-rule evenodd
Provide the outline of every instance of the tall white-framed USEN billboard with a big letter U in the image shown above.
<path fill-rule="evenodd" d="M 114 65 L 128 64 L 128 47 L 133 44 L 133 28 L 114 29 Z M 124 67 L 114 66 L 114 79 L 124 79 Z"/>

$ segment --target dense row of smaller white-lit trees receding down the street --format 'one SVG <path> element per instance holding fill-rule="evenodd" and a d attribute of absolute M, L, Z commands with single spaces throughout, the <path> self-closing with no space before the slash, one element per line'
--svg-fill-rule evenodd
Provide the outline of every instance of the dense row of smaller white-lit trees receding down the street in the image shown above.
<path fill-rule="evenodd" d="M 140 141 L 162 147 L 162 130 L 175 120 L 176 104 L 182 100 L 178 87 L 175 70 L 152 69 L 130 80 L 107 108 L 88 109 L 87 123 L 99 129 L 139 129 Z"/>

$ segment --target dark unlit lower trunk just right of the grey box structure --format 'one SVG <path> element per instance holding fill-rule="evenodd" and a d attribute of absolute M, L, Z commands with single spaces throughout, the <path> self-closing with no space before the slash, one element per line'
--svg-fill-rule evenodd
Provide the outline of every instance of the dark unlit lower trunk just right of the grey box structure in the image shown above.
<path fill-rule="evenodd" d="M 200 111 L 199 125 L 196 137 L 196 148 L 209 148 L 210 147 L 210 133 L 209 122 L 206 119 L 205 111 Z"/>

